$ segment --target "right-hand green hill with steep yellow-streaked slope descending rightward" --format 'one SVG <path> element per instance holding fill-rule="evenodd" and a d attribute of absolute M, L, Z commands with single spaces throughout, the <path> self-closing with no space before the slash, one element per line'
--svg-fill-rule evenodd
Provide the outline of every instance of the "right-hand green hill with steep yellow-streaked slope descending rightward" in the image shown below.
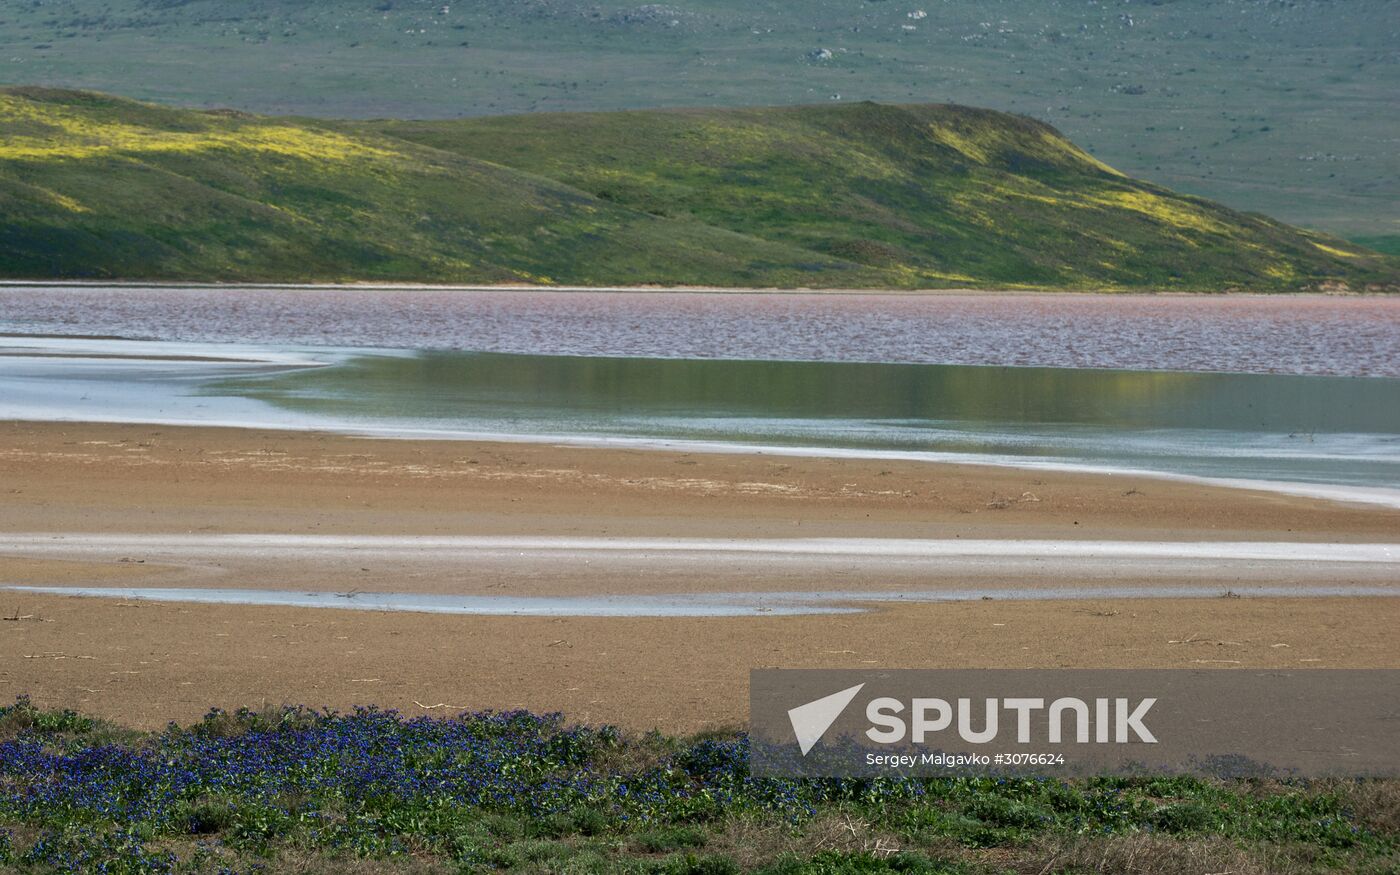
<path fill-rule="evenodd" d="M 900 284 L 1285 287 L 1380 260 L 1128 179 L 1054 129 L 963 106 L 381 123 L 652 214 L 883 267 Z"/>

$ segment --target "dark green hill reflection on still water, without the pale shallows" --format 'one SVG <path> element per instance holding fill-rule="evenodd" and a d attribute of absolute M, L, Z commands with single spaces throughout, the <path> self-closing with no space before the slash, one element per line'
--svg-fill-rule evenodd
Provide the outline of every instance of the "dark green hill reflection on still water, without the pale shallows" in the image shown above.
<path fill-rule="evenodd" d="M 242 385 L 308 410 L 444 421 L 491 410 L 543 419 L 1400 431 L 1400 382 L 1240 374 L 428 351 L 360 356 Z"/>

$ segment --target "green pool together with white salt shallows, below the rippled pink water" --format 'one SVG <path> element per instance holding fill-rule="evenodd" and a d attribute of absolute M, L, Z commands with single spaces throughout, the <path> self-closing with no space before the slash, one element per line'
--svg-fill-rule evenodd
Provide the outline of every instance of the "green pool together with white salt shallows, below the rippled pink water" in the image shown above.
<path fill-rule="evenodd" d="M 0 337 L 0 419 L 1151 472 L 1400 507 L 1400 379 Z"/>

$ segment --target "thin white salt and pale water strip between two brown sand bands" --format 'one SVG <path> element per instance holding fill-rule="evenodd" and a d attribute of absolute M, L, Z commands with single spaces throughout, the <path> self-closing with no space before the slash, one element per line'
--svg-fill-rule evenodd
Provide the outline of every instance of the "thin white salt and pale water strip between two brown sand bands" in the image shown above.
<path fill-rule="evenodd" d="M 1400 543 L 0 533 L 0 553 L 123 561 L 151 575 L 43 592 L 454 613 L 812 613 L 984 595 L 1198 598 L 1225 587 L 1400 595 Z M 853 589 L 853 580 L 874 582 Z"/>

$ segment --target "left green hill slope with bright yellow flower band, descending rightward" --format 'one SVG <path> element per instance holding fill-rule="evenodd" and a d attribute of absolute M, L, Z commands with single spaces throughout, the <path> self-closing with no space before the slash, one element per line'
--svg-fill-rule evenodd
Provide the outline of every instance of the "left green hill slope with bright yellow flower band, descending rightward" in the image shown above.
<path fill-rule="evenodd" d="M 374 133 L 0 91 L 0 276 L 795 283 L 860 266 Z"/>

